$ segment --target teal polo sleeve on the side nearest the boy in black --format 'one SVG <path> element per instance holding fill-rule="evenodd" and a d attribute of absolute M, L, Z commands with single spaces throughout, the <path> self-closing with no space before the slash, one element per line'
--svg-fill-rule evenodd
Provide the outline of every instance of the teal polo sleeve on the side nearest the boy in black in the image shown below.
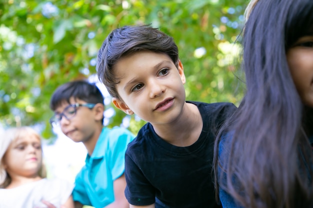
<path fill-rule="evenodd" d="M 113 128 L 109 138 L 109 167 L 112 180 L 119 178 L 125 170 L 125 151 L 134 136 L 126 129 Z"/>

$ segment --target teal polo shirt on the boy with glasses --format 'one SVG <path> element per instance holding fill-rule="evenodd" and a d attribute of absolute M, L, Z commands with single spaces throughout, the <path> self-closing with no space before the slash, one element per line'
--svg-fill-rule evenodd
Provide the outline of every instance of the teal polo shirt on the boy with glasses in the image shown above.
<path fill-rule="evenodd" d="M 125 151 L 134 136 L 126 129 L 104 127 L 91 156 L 77 174 L 73 200 L 103 208 L 114 201 L 113 182 L 124 173 Z"/>

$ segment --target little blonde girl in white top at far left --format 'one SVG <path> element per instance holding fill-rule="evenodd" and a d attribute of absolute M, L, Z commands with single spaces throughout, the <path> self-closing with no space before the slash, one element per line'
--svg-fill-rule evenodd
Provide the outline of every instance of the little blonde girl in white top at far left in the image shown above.
<path fill-rule="evenodd" d="M 73 185 L 45 178 L 40 136 L 30 127 L 0 134 L 0 208 L 73 208 Z"/>

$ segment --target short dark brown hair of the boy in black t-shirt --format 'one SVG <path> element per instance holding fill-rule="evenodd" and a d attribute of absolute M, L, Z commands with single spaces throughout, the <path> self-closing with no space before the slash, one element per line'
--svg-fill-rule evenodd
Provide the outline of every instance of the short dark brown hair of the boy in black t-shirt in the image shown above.
<path fill-rule="evenodd" d="M 133 25 L 116 28 L 105 38 L 98 51 L 96 70 L 112 97 L 120 99 L 115 85 L 114 65 L 122 56 L 137 51 L 152 51 L 167 54 L 178 66 L 178 48 L 172 37 L 150 25 Z"/>

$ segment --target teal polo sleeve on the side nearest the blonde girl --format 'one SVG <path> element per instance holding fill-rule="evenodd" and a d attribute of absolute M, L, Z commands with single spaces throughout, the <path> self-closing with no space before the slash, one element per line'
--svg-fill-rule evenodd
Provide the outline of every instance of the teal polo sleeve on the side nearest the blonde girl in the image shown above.
<path fill-rule="evenodd" d="M 91 202 L 89 201 L 89 197 L 84 186 L 82 170 L 77 174 L 75 178 L 75 187 L 73 189 L 72 196 L 74 202 L 79 202 L 82 205 L 91 206 Z"/>

